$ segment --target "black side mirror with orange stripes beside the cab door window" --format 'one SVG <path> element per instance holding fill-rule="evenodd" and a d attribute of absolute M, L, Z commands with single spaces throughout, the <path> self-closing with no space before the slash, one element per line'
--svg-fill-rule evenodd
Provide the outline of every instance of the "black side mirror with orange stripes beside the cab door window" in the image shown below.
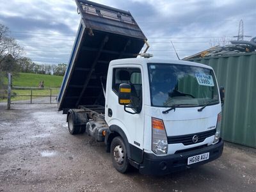
<path fill-rule="evenodd" d="M 131 85 L 122 83 L 119 86 L 118 103 L 122 106 L 131 104 Z"/>

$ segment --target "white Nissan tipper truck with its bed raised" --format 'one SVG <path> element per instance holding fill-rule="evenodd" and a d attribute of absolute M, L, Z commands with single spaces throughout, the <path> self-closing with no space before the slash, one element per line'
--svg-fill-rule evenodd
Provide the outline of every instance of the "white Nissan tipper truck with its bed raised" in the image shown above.
<path fill-rule="evenodd" d="M 86 132 L 105 142 L 121 173 L 134 166 L 143 174 L 164 175 L 220 157 L 224 95 L 212 68 L 189 61 L 127 58 L 138 56 L 147 40 L 131 13 L 76 2 L 82 21 L 58 97 L 70 134 Z M 131 30 L 133 23 L 140 34 L 99 30 L 98 24 L 109 20 L 111 28 L 116 27 L 113 22 L 123 22 L 122 30 L 124 24 Z"/>

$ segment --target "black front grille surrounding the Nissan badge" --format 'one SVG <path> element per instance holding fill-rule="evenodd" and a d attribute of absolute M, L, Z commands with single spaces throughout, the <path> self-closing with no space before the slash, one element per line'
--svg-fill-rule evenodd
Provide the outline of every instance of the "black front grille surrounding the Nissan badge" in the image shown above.
<path fill-rule="evenodd" d="M 174 143 L 183 143 L 183 145 L 191 145 L 195 144 L 192 141 L 193 136 L 198 136 L 198 141 L 196 143 L 203 142 L 205 138 L 208 138 L 210 136 L 213 136 L 216 132 L 216 129 L 213 129 L 211 131 L 204 131 L 204 132 L 197 132 L 193 134 L 186 134 L 182 136 L 169 136 L 167 137 L 168 144 L 174 144 Z"/>

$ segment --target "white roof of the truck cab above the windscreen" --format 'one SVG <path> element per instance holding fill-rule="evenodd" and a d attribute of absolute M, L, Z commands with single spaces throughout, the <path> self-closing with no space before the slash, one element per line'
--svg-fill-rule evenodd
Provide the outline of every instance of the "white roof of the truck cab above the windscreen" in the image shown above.
<path fill-rule="evenodd" d="M 141 64 L 147 65 L 147 63 L 172 63 L 172 64 L 179 64 L 179 65 L 193 65 L 196 67 L 204 67 L 204 68 L 211 68 L 208 65 L 204 65 L 201 63 L 195 63 L 191 61 L 184 61 L 184 60 L 162 60 L 157 58 L 127 58 L 122 60 L 113 60 L 111 61 L 110 65 L 120 65 L 120 64 L 127 64 L 127 63 L 134 63 L 134 64 Z"/>

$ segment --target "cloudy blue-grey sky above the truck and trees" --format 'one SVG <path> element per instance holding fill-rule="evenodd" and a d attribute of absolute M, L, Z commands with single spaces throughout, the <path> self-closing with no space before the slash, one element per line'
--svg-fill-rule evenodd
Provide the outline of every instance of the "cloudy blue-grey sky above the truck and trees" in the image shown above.
<path fill-rule="evenodd" d="M 244 35 L 256 36 L 255 0 L 93 2 L 131 12 L 154 58 L 176 59 L 171 41 L 184 58 L 235 40 L 241 19 Z M 68 63 L 80 19 L 74 0 L 0 1 L 0 24 L 24 47 L 24 56 L 36 63 Z"/>

